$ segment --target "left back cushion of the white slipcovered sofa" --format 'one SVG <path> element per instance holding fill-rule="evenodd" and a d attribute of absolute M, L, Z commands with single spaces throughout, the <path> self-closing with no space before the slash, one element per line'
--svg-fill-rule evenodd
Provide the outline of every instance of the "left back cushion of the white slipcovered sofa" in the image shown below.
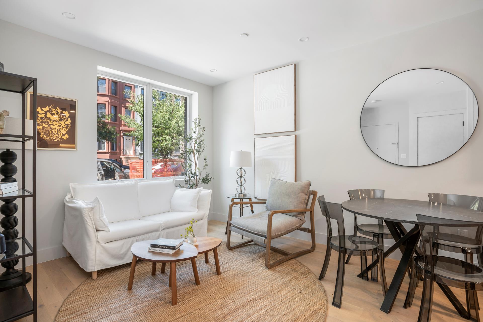
<path fill-rule="evenodd" d="M 71 183 L 71 195 L 81 200 L 99 197 L 109 223 L 130 219 L 141 219 L 138 200 L 138 182 L 80 184 Z"/>

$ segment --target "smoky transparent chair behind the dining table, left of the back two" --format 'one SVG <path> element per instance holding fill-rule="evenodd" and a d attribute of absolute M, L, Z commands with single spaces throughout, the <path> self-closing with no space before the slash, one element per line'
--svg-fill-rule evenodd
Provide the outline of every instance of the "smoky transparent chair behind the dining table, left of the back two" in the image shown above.
<path fill-rule="evenodd" d="M 351 200 L 354 199 L 367 199 L 367 198 L 384 198 L 384 190 L 381 189 L 355 189 L 355 190 L 348 190 L 347 193 L 349 194 L 349 198 Z M 357 232 L 361 235 L 371 237 L 372 240 L 375 240 L 379 244 L 379 248 L 381 248 L 384 252 L 384 238 L 393 238 L 389 228 L 380 220 L 378 223 L 374 224 L 357 224 L 357 215 L 354 214 L 354 235 L 357 235 Z M 345 264 L 349 264 L 349 260 L 351 259 L 351 255 L 347 256 Z M 365 276 L 362 276 L 365 279 Z M 372 268 L 370 271 L 370 280 L 377 282 L 377 266 Z"/>

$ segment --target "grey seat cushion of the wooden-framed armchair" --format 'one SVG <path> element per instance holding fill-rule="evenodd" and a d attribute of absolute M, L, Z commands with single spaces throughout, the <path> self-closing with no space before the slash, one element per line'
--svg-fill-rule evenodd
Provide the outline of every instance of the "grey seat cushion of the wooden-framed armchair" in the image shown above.
<path fill-rule="evenodd" d="M 231 225 L 246 232 L 267 237 L 267 223 L 270 211 L 263 210 L 255 214 L 231 220 Z M 272 217 L 271 237 L 277 238 L 299 228 L 304 222 L 284 213 L 276 213 Z"/>

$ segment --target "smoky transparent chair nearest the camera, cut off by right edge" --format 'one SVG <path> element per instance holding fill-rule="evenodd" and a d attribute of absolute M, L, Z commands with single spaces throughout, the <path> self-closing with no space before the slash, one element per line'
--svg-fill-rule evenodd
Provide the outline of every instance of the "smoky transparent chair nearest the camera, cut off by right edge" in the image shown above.
<path fill-rule="evenodd" d="M 436 245 L 440 241 L 455 240 L 469 249 L 482 246 L 483 223 L 465 222 L 443 219 L 417 214 L 421 239 L 423 242 L 422 256 L 414 256 L 412 261 L 411 279 L 408 295 L 411 306 L 416 288 L 417 274 L 423 274 L 423 294 L 418 322 L 431 320 L 433 305 L 434 282 L 466 290 L 466 310 L 457 298 L 453 298 L 458 313 L 466 319 L 476 318 L 480 321 L 477 308 L 476 291 L 483 291 L 483 268 L 465 260 L 440 256 L 436 253 Z M 458 236 L 458 231 L 467 232 L 468 236 Z"/>

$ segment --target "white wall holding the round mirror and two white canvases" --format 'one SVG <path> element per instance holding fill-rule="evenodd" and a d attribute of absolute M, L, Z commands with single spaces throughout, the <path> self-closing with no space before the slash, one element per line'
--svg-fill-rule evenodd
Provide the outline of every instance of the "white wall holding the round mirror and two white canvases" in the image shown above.
<path fill-rule="evenodd" d="M 311 180 L 319 196 L 332 202 L 347 200 L 347 190 L 358 188 L 385 189 L 389 198 L 419 200 L 427 200 L 428 192 L 482 196 L 482 126 L 455 155 L 416 168 L 381 160 L 364 143 L 359 127 L 369 93 L 404 70 L 449 71 L 483 101 L 481 30 L 483 11 L 298 62 L 297 179 Z M 253 151 L 252 75 L 214 87 L 213 124 L 217 181 L 212 217 L 226 220 L 229 199 L 225 195 L 234 192 L 236 179 L 235 169 L 228 167 L 229 152 Z M 247 168 L 246 179 L 247 192 L 253 192 L 253 168 Z M 318 206 L 315 216 L 317 241 L 325 243 L 326 223 Z M 352 215 L 346 217 L 346 227 L 351 227 Z"/>

